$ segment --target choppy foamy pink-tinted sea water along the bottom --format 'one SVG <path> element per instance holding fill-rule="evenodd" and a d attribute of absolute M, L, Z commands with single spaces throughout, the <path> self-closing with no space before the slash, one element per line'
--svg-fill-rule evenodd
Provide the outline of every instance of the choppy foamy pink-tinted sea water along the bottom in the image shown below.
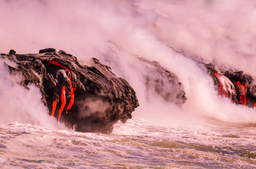
<path fill-rule="evenodd" d="M 131 120 L 104 135 L 1 124 L 0 168 L 256 168 L 255 128 Z"/>

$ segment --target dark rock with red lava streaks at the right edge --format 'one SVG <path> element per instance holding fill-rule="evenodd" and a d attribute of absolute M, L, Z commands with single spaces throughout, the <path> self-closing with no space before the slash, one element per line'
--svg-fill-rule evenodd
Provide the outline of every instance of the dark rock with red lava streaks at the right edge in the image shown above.
<path fill-rule="evenodd" d="M 256 82 L 243 71 L 218 68 L 213 64 L 204 64 L 214 84 L 218 86 L 220 96 L 230 98 L 232 103 L 256 107 Z"/>

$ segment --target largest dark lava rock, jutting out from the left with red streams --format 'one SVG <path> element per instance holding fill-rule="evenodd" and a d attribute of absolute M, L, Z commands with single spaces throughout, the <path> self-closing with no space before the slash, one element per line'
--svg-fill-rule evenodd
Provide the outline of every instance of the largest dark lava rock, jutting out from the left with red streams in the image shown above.
<path fill-rule="evenodd" d="M 138 99 L 132 87 L 112 73 L 108 66 L 92 59 L 92 65 L 81 65 L 77 58 L 54 48 L 39 54 L 1 54 L 11 74 L 21 75 L 21 85 L 35 84 L 49 114 L 77 131 L 111 133 L 118 120 L 131 119 Z"/>

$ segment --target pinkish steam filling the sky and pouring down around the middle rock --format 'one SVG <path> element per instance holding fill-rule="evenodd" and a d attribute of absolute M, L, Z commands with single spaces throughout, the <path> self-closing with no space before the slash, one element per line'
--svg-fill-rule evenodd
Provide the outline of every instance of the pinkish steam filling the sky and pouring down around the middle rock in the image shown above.
<path fill-rule="evenodd" d="M 233 105 L 218 96 L 211 77 L 193 61 L 213 62 L 255 76 L 255 5 L 249 0 L 2 0 L 0 52 L 13 48 L 19 54 L 32 53 L 53 47 L 83 62 L 97 57 L 136 91 L 140 102 L 133 113 L 136 118 L 203 115 L 223 121 L 255 121 L 253 108 Z M 175 73 L 186 92 L 186 104 L 179 108 L 148 92 L 143 75 L 149 72 L 140 66 L 138 57 L 157 61 Z M 1 78 L 1 89 L 4 87 Z M 15 99 L 22 100 L 19 96 L 26 89 L 9 82 L 7 87 L 15 91 Z M 32 92 L 35 98 L 30 99 L 37 102 L 28 100 L 28 109 L 40 101 L 33 85 L 28 94 Z M 11 111 L 2 107 L 6 114 Z"/>

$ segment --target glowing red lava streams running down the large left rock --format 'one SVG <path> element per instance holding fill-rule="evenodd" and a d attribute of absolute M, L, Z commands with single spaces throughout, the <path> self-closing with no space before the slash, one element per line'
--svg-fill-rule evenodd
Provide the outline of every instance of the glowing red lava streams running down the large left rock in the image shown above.
<path fill-rule="evenodd" d="M 66 68 L 65 66 L 62 66 L 60 64 L 60 62 L 50 61 L 49 63 L 55 64 L 57 66 L 61 66 L 61 68 L 64 68 L 65 70 L 68 70 L 70 72 L 69 81 L 70 81 L 70 95 L 71 95 L 71 98 L 70 98 L 70 101 L 68 103 L 67 110 L 66 110 L 66 114 L 68 114 L 68 110 L 70 110 L 70 108 L 72 108 L 72 105 L 74 104 L 74 99 L 75 99 L 74 91 L 76 91 L 76 87 L 74 89 L 74 87 L 72 85 L 72 71 L 69 70 L 68 68 Z M 66 89 L 66 87 L 64 85 L 62 87 L 62 89 L 61 89 L 61 107 L 60 107 L 60 110 L 59 110 L 58 121 L 60 121 L 61 113 L 62 113 L 62 111 L 63 111 L 63 109 L 65 108 L 65 105 L 66 105 L 66 92 L 65 92 L 65 89 Z M 57 98 L 52 102 L 52 116 L 54 116 L 54 112 L 56 110 L 56 106 L 57 106 Z"/>

